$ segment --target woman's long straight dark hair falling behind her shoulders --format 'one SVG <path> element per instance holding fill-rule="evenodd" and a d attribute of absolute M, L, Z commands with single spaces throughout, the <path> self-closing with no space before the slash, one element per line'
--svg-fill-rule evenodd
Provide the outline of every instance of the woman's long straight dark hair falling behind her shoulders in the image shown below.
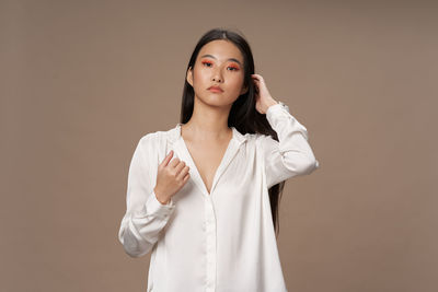
<path fill-rule="evenodd" d="M 269 135 L 273 137 L 273 139 L 278 141 L 277 133 L 267 121 L 266 115 L 260 114 L 255 109 L 256 89 L 251 78 L 251 74 L 254 74 L 254 59 L 250 45 L 241 32 L 238 33 L 231 30 L 217 27 L 205 33 L 198 40 L 192 54 L 192 57 L 186 68 L 186 73 L 189 68 L 194 68 L 196 58 L 203 46 L 216 39 L 226 39 L 232 42 L 240 49 L 240 51 L 243 55 L 244 86 L 247 86 L 249 89 L 246 93 L 240 95 L 238 100 L 235 100 L 235 102 L 233 103 L 228 117 L 228 127 L 234 127 L 237 130 L 239 130 L 239 132 L 243 135 L 244 133 Z M 187 82 L 186 78 L 184 78 L 184 90 L 183 90 L 180 122 L 186 124 L 191 119 L 195 103 L 194 100 L 195 100 L 194 90 L 192 85 Z M 279 232 L 278 207 L 284 187 L 285 187 L 285 182 L 281 182 L 270 187 L 268 190 L 270 211 L 273 215 L 273 224 L 276 235 L 278 235 Z"/>

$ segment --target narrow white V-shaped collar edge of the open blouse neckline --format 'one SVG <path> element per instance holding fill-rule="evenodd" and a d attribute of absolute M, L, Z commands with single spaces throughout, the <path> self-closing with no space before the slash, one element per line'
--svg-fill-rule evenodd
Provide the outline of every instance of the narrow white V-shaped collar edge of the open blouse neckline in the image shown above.
<path fill-rule="evenodd" d="M 226 151 L 224 151 L 224 153 L 222 155 L 222 159 L 220 160 L 220 163 L 219 163 L 218 167 L 216 168 L 216 172 L 215 172 L 215 175 L 214 175 L 214 178 L 212 178 L 212 183 L 211 183 L 211 188 L 210 188 L 210 191 L 208 191 L 207 186 L 204 183 L 204 179 L 200 176 L 200 173 L 199 173 L 199 171 L 198 171 L 198 168 L 197 168 L 197 166 L 195 164 L 195 161 L 194 161 L 191 152 L 188 151 L 187 144 L 185 143 L 185 140 L 184 140 L 184 138 L 182 136 L 182 129 L 181 129 L 182 124 L 178 122 L 176 126 L 177 126 L 177 133 L 180 136 L 180 141 L 182 143 L 182 148 L 183 148 L 184 154 L 185 154 L 186 160 L 187 160 L 186 163 L 188 163 L 189 168 L 193 170 L 193 173 L 191 172 L 192 173 L 191 176 L 194 179 L 194 182 L 197 184 L 197 186 L 200 188 L 200 190 L 203 192 L 205 192 L 205 195 L 207 195 L 208 197 L 211 197 L 211 194 L 215 190 L 215 186 L 217 184 L 217 180 L 219 179 L 220 175 L 222 174 L 223 168 L 228 165 L 228 163 L 232 159 L 231 154 L 235 153 L 235 151 L 232 151 L 232 150 L 235 150 L 235 147 L 234 147 L 235 128 L 231 127 L 231 130 L 232 130 L 231 139 L 228 142 L 227 149 L 226 149 Z M 232 151 L 232 153 L 231 153 L 231 151 Z"/>

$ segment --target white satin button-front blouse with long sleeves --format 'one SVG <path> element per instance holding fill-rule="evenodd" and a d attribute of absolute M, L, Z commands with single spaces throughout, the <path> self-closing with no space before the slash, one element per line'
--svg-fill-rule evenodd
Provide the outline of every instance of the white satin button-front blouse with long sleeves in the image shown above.
<path fill-rule="evenodd" d="M 151 252 L 148 292 L 287 291 L 275 237 L 268 188 L 319 167 L 304 126 L 286 105 L 268 107 L 278 140 L 233 136 L 210 195 L 181 136 L 181 125 L 143 136 L 129 166 L 126 213 L 118 240 L 138 258 Z M 191 177 L 168 205 L 153 188 L 170 150 Z"/>

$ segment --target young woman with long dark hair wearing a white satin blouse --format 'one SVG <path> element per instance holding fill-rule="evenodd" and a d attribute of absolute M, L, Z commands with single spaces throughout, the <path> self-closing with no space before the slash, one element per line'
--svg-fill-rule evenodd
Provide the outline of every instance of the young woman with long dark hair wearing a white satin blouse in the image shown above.
<path fill-rule="evenodd" d="M 285 180 L 319 167 L 247 42 L 215 28 L 189 59 L 181 122 L 143 136 L 118 240 L 151 252 L 148 291 L 287 291 L 276 243 Z"/>

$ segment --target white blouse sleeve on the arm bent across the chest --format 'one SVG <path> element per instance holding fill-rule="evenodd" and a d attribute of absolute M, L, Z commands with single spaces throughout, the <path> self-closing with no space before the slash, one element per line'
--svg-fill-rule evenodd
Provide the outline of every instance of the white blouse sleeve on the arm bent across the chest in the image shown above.
<path fill-rule="evenodd" d="M 149 165 L 152 160 L 148 160 L 148 153 L 153 153 L 150 143 L 150 135 L 142 137 L 130 161 L 126 213 L 118 232 L 119 242 L 131 257 L 143 256 L 152 249 L 175 209 L 172 199 L 163 205 L 153 191 L 155 182 L 152 182 L 152 167 Z"/>

